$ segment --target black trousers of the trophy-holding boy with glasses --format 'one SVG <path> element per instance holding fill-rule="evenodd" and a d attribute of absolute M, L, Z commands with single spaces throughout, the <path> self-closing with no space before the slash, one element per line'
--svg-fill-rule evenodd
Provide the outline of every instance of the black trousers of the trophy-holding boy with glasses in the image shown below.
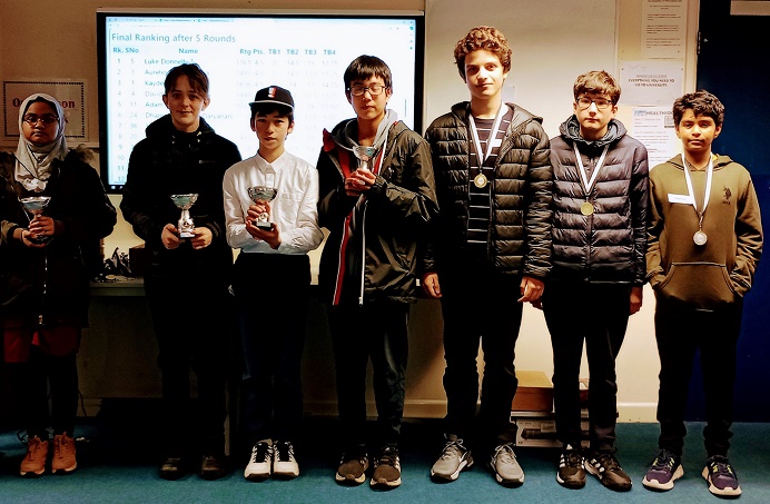
<path fill-rule="evenodd" d="M 343 449 L 367 444 L 366 369 L 372 359 L 377 406 L 376 449 L 398 447 L 406 395 L 408 303 L 345 303 L 328 307 L 334 343 L 337 402 Z"/>

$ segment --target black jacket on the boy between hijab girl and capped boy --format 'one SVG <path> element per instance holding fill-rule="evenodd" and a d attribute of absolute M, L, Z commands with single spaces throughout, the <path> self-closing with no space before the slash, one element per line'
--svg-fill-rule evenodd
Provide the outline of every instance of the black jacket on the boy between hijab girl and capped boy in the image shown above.
<path fill-rule="evenodd" d="M 145 240 L 150 264 L 146 279 L 158 277 L 219 278 L 228 285 L 233 250 L 225 231 L 221 181 L 225 170 L 240 160 L 235 144 L 217 135 L 201 118 L 198 130 L 185 134 L 166 115 L 147 127 L 147 138 L 131 151 L 120 210 L 134 233 Z M 174 194 L 198 194 L 190 208 L 196 227 L 207 227 L 211 245 L 195 250 L 185 240 L 174 250 L 164 247 L 164 226 L 179 220 Z"/>

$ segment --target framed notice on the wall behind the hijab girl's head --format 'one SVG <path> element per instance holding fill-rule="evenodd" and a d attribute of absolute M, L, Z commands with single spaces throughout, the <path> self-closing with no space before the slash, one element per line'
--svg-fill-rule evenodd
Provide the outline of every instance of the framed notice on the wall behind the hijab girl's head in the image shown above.
<path fill-rule="evenodd" d="M 65 109 L 65 136 L 67 139 L 88 140 L 86 121 L 86 81 L 69 79 L 50 80 L 3 80 L 2 117 L 3 140 L 16 141 L 19 138 L 19 107 L 33 92 L 50 95 Z"/>

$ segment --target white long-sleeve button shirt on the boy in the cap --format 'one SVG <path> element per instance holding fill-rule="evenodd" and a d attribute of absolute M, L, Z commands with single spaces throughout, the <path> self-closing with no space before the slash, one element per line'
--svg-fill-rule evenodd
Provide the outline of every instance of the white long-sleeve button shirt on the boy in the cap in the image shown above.
<path fill-rule="evenodd" d="M 277 188 L 270 205 L 272 221 L 280 231 L 280 246 L 273 249 L 246 230 L 248 207 L 253 205 L 248 188 Z M 241 253 L 307 254 L 318 248 L 324 233 L 318 227 L 318 171 L 309 162 L 284 152 L 273 162 L 259 154 L 236 162 L 223 180 L 227 243 Z"/>

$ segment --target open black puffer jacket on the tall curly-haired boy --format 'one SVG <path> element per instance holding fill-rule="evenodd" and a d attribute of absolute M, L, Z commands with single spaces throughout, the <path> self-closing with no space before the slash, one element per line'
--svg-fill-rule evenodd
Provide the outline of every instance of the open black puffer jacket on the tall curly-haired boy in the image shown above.
<path fill-rule="evenodd" d="M 456 103 L 425 132 L 438 195 L 438 226 L 426 261 L 438 273 L 458 266 L 467 246 L 468 115 Z M 551 269 L 551 184 L 549 138 L 542 119 L 521 107 L 505 134 L 492 182 L 488 264 L 504 275 L 544 279 Z"/>

